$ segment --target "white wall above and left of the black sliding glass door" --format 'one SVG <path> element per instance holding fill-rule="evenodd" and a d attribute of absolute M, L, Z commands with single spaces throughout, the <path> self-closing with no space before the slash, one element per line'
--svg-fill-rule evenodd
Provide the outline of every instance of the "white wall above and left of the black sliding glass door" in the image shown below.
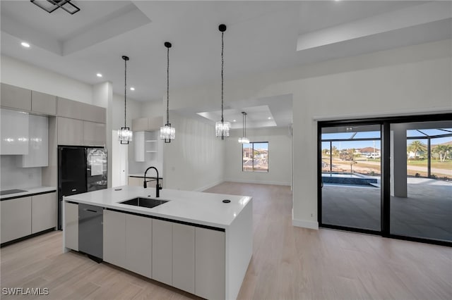
<path fill-rule="evenodd" d="M 452 41 L 227 80 L 230 101 L 293 95 L 293 220 L 317 223 L 317 120 L 452 112 Z M 218 85 L 172 92 L 172 106 L 215 107 Z"/>

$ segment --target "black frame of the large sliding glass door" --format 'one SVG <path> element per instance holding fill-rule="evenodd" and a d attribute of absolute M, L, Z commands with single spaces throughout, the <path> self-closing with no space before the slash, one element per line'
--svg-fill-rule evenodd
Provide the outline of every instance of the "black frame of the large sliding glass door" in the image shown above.
<path fill-rule="evenodd" d="M 391 234 L 391 124 L 413 123 L 413 122 L 433 122 L 452 120 L 452 113 L 440 113 L 432 115 L 405 115 L 384 118 L 359 118 L 347 120 L 328 120 L 317 122 L 317 215 L 319 227 L 337 230 L 347 230 L 371 235 L 380 235 L 393 239 L 403 239 L 413 242 L 427 244 L 439 244 L 442 246 L 452 246 L 452 242 L 439 241 L 435 239 L 424 239 L 420 237 L 406 237 L 403 235 Z M 322 223 L 322 170 L 321 170 L 321 130 L 323 127 L 338 127 L 343 125 L 381 125 L 381 230 L 367 230 L 355 227 L 340 225 L 329 225 Z"/>

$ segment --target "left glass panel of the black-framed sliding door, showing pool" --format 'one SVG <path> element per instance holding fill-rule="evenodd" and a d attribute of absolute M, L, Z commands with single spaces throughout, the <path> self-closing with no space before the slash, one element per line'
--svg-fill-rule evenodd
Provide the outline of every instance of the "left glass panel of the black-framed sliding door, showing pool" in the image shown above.
<path fill-rule="evenodd" d="M 323 225 L 381 231 L 381 125 L 321 129 Z"/>

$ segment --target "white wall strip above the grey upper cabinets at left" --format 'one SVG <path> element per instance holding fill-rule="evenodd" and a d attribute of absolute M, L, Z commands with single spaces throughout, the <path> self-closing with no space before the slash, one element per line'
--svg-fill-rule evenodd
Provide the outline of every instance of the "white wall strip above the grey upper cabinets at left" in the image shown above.
<path fill-rule="evenodd" d="M 1 82 L 94 104 L 92 85 L 4 55 L 1 56 Z"/>

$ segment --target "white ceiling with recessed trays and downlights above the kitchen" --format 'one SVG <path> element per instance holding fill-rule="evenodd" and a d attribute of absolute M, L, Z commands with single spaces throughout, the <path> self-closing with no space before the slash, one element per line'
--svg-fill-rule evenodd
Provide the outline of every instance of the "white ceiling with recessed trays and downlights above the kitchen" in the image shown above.
<path fill-rule="evenodd" d="M 220 23 L 227 25 L 225 87 L 232 77 L 452 38 L 451 1 L 72 2 L 81 8 L 74 15 L 2 0 L 1 54 L 90 85 L 109 80 L 117 94 L 124 90 L 121 56 L 127 55 L 128 84 L 136 87 L 128 95 L 138 101 L 165 95 L 165 41 L 173 44 L 170 89 L 218 82 Z M 23 40 L 30 49 L 20 46 Z M 297 51 L 307 40 L 310 46 Z M 273 122 L 286 125 L 292 121 L 292 99 L 283 112 L 272 105 L 276 98 L 243 101 L 230 108 L 231 118 L 243 108 L 267 105 Z"/>

